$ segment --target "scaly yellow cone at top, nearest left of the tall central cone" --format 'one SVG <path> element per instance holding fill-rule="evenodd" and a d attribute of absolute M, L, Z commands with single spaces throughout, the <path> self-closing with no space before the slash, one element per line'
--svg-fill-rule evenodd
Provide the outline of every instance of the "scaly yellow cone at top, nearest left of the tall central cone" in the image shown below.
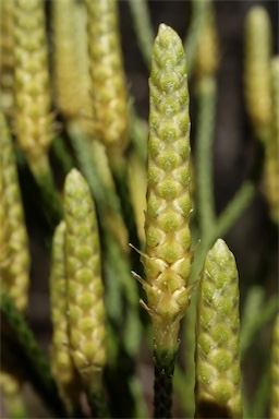
<path fill-rule="evenodd" d="M 107 146 L 128 144 L 128 93 L 116 0 L 86 0 L 95 133 Z"/>

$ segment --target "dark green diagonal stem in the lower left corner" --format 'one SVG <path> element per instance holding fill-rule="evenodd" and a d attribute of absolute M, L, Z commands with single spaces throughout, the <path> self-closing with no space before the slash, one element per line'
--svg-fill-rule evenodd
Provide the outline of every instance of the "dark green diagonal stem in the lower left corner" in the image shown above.
<path fill-rule="evenodd" d="M 28 380 L 47 407 L 51 408 L 59 417 L 66 417 L 51 378 L 48 360 L 39 348 L 35 336 L 22 314 L 14 307 L 9 294 L 2 289 L 0 297 L 1 315 L 16 338 L 16 345 L 19 345 L 21 352 L 19 359 L 22 361 L 24 370 L 27 371 Z"/>

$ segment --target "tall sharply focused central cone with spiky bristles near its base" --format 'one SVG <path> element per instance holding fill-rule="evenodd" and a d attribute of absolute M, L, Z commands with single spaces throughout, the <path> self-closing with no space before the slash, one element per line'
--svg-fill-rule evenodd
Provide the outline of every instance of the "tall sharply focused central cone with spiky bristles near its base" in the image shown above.
<path fill-rule="evenodd" d="M 174 70 L 175 69 L 175 70 Z M 156 348 L 175 354 L 190 304 L 190 117 L 186 60 L 178 34 L 161 24 L 155 40 L 147 163 L 146 279 L 140 279 Z"/>

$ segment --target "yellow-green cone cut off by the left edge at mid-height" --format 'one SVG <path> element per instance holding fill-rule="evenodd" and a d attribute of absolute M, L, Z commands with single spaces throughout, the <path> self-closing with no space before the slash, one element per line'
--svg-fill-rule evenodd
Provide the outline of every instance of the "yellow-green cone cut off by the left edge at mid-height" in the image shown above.
<path fill-rule="evenodd" d="M 1 283 L 9 289 L 16 308 L 25 311 L 31 263 L 28 239 L 12 140 L 2 112 L 0 112 L 0 148 Z"/>

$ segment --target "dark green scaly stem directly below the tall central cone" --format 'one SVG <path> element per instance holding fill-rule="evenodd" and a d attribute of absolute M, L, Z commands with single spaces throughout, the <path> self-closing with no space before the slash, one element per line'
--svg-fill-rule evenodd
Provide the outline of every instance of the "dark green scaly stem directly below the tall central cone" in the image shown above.
<path fill-rule="evenodd" d="M 154 418 L 172 418 L 172 378 L 177 354 L 154 351 Z"/>

